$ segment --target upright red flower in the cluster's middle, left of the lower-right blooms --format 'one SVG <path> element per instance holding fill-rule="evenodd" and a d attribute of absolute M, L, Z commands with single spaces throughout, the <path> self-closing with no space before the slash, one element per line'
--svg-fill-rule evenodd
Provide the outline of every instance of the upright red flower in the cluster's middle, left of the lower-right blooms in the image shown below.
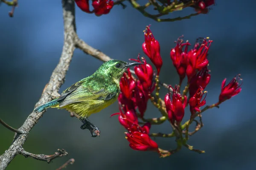
<path fill-rule="evenodd" d="M 186 96 L 184 96 L 184 98 L 184 102 L 182 103 L 182 96 L 179 94 L 179 88 L 177 88 L 177 86 L 173 89 L 172 99 L 170 94 L 166 94 L 165 96 L 166 111 L 172 123 L 174 123 L 175 120 L 180 123 L 184 117 L 184 109 L 187 103 Z"/>

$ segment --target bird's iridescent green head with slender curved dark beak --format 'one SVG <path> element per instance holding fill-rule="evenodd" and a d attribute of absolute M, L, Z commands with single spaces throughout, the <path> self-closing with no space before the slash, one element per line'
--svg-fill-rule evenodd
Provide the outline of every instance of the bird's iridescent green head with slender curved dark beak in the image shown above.
<path fill-rule="evenodd" d="M 96 72 L 100 74 L 108 74 L 111 77 L 113 77 L 113 79 L 121 79 L 122 75 L 128 68 L 139 64 L 142 63 L 124 62 L 117 59 L 113 59 L 103 63 Z"/>

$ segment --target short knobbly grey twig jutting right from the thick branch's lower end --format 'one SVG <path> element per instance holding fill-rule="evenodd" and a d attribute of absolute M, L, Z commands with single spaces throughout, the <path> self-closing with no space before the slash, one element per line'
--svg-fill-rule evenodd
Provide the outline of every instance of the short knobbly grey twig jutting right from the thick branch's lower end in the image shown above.
<path fill-rule="evenodd" d="M 27 157 L 31 157 L 40 161 L 47 161 L 47 163 L 52 162 L 52 159 L 61 157 L 61 156 L 67 156 L 67 151 L 64 149 L 58 149 L 57 152 L 55 152 L 53 155 L 44 155 L 44 154 L 34 154 L 29 153 L 25 151 L 23 148 L 20 150 L 20 154 Z"/>

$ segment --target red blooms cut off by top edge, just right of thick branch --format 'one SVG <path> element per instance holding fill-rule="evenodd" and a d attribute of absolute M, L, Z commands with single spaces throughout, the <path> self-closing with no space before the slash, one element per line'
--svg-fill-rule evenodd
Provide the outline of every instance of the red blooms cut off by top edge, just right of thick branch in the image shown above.
<path fill-rule="evenodd" d="M 113 0 L 93 0 L 93 11 L 90 11 L 89 0 L 75 0 L 76 5 L 86 13 L 94 13 L 96 16 L 108 14 L 114 6 Z"/>

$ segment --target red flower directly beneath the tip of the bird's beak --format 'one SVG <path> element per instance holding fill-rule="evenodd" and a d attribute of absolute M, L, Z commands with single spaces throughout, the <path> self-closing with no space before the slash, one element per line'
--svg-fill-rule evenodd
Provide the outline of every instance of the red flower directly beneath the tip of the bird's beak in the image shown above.
<path fill-rule="evenodd" d="M 134 71 L 136 76 L 139 78 L 143 89 L 145 91 L 148 91 L 151 93 L 152 91 L 154 91 L 154 87 L 152 87 L 152 79 L 153 79 L 153 68 L 150 64 L 147 64 L 145 58 L 141 58 L 142 61 L 144 62 L 143 65 L 136 65 L 134 67 Z M 141 62 L 140 61 L 140 54 L 138 55 L 138 59 L 131 59 L 134 60 L 136 62 Z"/>

